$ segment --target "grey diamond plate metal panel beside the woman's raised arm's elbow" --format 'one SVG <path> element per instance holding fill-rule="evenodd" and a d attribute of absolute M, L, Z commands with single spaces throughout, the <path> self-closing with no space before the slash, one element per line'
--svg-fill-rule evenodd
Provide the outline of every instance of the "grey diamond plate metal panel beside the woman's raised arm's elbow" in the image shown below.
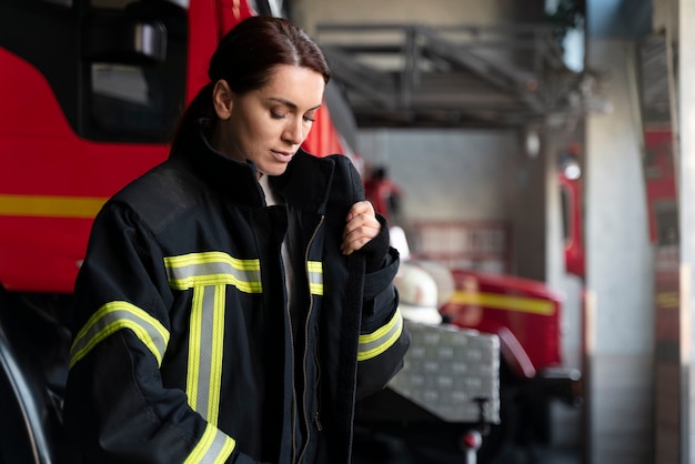
<path fill-rule="evenodd" d="M 500 340 L 453 325 L 405 322 L 411 347 L 389 387 L 447 422 L 500 423 Z"/>

